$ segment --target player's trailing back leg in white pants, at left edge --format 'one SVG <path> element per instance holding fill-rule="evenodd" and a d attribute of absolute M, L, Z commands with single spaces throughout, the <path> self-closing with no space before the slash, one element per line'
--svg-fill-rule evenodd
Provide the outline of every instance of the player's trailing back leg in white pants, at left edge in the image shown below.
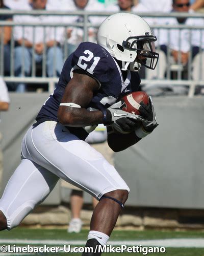
<path fill-rule="evenodd" d="M 49 195 L 58 180 L 38 164 L 21 160 L 0 200 L 0 230 L 18 226 Z"/>

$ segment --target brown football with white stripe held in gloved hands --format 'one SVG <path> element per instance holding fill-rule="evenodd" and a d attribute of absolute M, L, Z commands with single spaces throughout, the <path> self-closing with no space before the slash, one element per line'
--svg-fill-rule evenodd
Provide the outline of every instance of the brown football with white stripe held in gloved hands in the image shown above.
<path fill-rule="evenodd" d="M 140 115 L 139 107 L 140 101 L 143 101 L 144 104 L 148 105 L 149 97 L 145 92 L 133 92 L 122 97 L 122 107 L 123 111 Z"/>

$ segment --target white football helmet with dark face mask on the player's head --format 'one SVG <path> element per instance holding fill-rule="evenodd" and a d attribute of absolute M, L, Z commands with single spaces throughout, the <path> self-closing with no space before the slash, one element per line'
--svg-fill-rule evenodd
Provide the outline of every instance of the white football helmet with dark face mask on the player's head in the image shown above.
<path fill-rule="evenodd" d="M 132 13 L 107 17 L 97 33 L 97 43 L 122 61 L 122 70 L 129 65 L 132 71 L 138 71 L 141 65 L 155 69 L 159 58 L 155 52 L 156 40 L 145 20 Z"/>

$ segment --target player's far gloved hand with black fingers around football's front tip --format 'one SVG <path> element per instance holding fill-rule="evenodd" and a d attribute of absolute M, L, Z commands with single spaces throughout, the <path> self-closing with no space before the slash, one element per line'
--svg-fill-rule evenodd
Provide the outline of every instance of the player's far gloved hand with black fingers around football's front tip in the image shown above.
<path fill-rule="evenodd" d="M 143 101 L 140 102 L 139 111 L 141 116 L 145 119 L 142 121 L 143 128 L 146 132 L 152 132 L 159 124 L 156 121 L 156 113 L 151 96 L 149 96 L 149 104 L 145 105 Z"/>

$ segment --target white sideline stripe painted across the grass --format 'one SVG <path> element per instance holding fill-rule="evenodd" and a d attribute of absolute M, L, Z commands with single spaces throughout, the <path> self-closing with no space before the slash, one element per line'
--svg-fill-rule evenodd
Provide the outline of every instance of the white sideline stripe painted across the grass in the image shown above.
<path fill-rule="evenodd" d="M 0 244 L 46 244 L 46 245 L 85 245 L 85 240 L 21 240 L 21 239 L 0 239 Z M 159 246 L 174 248 L 204 248 L 204 238 L 171 238 L 154 240 L 124 240 L 109 241 L 108 244 L 127 246 Z M 0 253 L 1 255 L 1 253 Z M 5 255 L 5 253 L 4 253 Z"/>

